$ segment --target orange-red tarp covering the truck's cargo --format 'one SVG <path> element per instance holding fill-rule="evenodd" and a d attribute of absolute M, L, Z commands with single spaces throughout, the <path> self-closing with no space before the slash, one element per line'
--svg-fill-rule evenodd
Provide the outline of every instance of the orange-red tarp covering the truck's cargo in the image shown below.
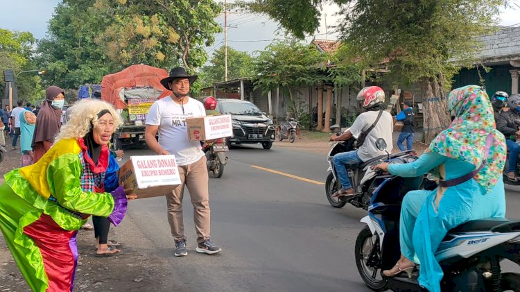
<path fill-rule="evenodd" d="M 163 98 L 171 94 L 171 91 L 160 83 L 160 80 L 166 77 L 168 77 L 168 72 L 164 69 L 148 65 L 132 65 L 117 73 L 103 76 L 101 98 L 103 101 L 112 103 L 116 109 L 126 108 L 125 102 L 121 101 L 119 97 L 119 92 L 125 88 L 153 87 L 162 92 L 158 98 Z"/>

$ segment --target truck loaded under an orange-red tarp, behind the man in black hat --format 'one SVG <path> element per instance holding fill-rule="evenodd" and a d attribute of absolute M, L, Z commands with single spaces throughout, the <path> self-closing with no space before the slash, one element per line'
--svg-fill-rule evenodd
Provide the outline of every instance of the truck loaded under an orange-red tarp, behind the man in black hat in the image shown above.
<path fill-rule="evenodd" d="M 101 99 L 112 103 L 123 118 L 123 126 L 114 132 L 114 148 L 146 144 L 146 115 L 153 103 L 171 94 L 160 80 L 168 77 L 164 69 L 148 65 L 132 65 L 114 74 L 103 76 Z"/>

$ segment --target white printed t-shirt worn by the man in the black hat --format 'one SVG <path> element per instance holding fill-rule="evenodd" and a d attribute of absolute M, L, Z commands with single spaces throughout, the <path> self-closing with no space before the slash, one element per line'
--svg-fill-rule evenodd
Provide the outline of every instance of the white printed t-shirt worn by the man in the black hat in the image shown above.
<path fill-rule="evenodd" d="M 153 103 L 146 125 L 159 126 L 159 145 L 175 155 L 178 165 L 188 165 L 200 160 L 204 152 L 200 141 L 189 141 L 186 119 L 205 115 L 200 101 L 187 96 L 180 105 L 168 96 Z"/>

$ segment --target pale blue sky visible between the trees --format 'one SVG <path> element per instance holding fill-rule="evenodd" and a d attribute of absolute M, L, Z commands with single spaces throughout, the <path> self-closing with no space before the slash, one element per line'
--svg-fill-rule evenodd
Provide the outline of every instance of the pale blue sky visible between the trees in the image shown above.
<path fill-rule="evenodd" d="M 60 0 L 0 0 L 2 7 L 2 15 L 0 17 L 0 28 L 6 28 L 12 31 L 29 31 L 37 39 L 45 37 L 47 31 L 47 22 L 51 19 L 55 6 Z M 512 8 L 503 9 L 500 15 L 501 24 L 505 26 L 519 24 L 520 18 L 520 0 L 511 1 Z M 336 6 L 324 6 L 324 13 L 327 14 L 327 25 L 331 26 L 336 23 L 337 17 L 333 16 L 338 8 Z M 216 22 L 223 26 L 224 17 L 216 18 Z M 322 18 L 322 25 L 315 38 L 325 39 L 325 19 Z M 259 15 L 244 15 L 240 12 L 232 12 L 228 16 L 228 25 L 236 26 L 229 28 L 227 33 L 227 45 L 239 51 L 263 50 L 271 40 L 275 38 L 283 38 L 283 35 L 276 35 L 277 24 L 270 22 L 267 17 Z M 333 34 L 328 35 L 330 40 L 335 39 Z M 312 40 L 307 37 L 307 40 Z M 207 48 L 209 53 L 218 49 L 223 45 L 224 34 L 219 33 L 215 36 L 213 46 Z"/>

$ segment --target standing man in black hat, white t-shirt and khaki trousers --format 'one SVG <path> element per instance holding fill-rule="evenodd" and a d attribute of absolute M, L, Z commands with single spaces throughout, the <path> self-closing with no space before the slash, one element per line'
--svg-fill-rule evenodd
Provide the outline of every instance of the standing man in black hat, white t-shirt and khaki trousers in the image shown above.
<path fill-rule="evenodd" d="M 209 237 L 209 189 L 206 156 L 199 141 L 189 141 L 186 119 L 205 116 L 205 108 L 196 99 L 188 96 L 190 85 L 196 75 L 187 74 L 182 67 L 171 69 L 170 76 L 161 80 L 171 96 L 159 99 L 150 108 L 146 117 L 146 144 L 158 155 L 175 155 L 181 184 L 166 196 L 168 222 L 175 239 L 176 257 L 188 255 L 187 237 L 184 234 L 182 198 L 184 186 L 188 187 L 193 204 L 193 221 L 197 232 L 197 252 L 212 255 L 220 248 Z M 159 141 L 155 135 L 159 131 Z"/>

